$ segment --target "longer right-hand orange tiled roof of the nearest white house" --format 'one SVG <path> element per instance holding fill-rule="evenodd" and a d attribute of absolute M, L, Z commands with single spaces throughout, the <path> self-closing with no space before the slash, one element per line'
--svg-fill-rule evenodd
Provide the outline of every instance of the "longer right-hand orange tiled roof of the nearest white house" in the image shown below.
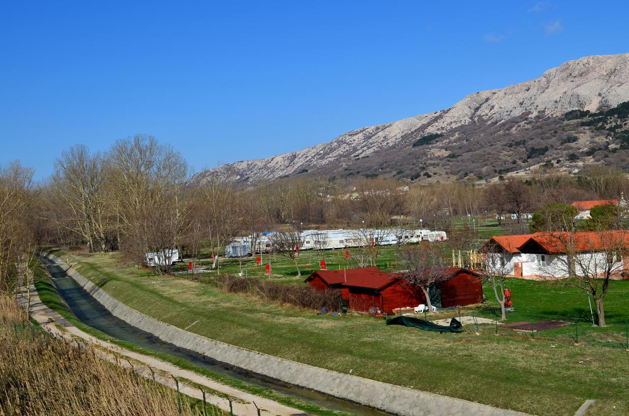
<path fill-rule="evenodd" d="M 547 253 L 566 253 L 567 251 L 602 251 L 615 249 L 619 246 L 629 248 L 629 231 L 615 230 L 596 233 L 581 231 L 578 233 L 535 233 L 525 244 L 537 243 Z"/>

